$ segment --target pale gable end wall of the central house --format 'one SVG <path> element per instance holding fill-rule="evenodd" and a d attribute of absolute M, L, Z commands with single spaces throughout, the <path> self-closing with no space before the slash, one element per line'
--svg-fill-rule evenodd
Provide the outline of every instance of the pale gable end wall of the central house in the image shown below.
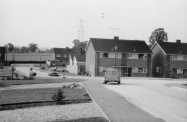
<path fill-rule="evenodd" d="M 86 72 L 89 75 L 95 76 L 96 70 L 96 52 L 93 47 L 93 44 L 89 42 L 87 50 L 86 50 Z"/>

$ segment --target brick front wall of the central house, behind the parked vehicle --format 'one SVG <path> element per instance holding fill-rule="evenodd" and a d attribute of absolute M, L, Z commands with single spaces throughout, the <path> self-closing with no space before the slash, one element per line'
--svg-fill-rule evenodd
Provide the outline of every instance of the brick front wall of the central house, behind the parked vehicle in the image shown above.
<path fill-rule="evenodd" d="M 103 76 L 104 71 L 109 68 L 109 67 L 117 67 L 118 70 L 120 70 L 122 73 L 124 70 L 124 67 L 129 67 L 132 69 L 131 76 L 148 76 L 150 73 L 150 67 L 148 67 L 148 58 L 145 59 L 127 59 L 128 54 L 125 53 L 118 53 L 116 58 L 111 58 L 109 56 L 108 58 L 106 57 L 101 57 L 101 55 L 104 52 L 98 52 L 97 53 L 97 71 L 96 75 L 97 76 Z M 110 52 L 113 53 L 113 52 Z M 109 55 L 110 55 L 109 53 Z M 144 54 L 148 55 L 148 54 Z M 148 57 L 148 56 L 147 56 Z M 149 57 L 150 58 L 150 57 Z M 150 59 L 149 59 L 150 60 Z M 143 72 L 138 72 L 138 68 L 143 68 Z M 123 75 L 123 74 L 122 74 Z"/>

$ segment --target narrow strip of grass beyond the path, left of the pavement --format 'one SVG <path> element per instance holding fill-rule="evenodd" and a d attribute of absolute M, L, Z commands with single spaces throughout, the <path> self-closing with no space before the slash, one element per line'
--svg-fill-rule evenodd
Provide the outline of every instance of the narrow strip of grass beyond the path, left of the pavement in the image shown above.
<path fill-rule="evenodd" d="M 83 80 L 73 79 L 73 78 L 35 79 L 35 80 L 0 80 L 0 87 L 7 87 L 10 85 L 65 83 L 65 82 L 80 82 L 80 81 L 83 81 Z"/>

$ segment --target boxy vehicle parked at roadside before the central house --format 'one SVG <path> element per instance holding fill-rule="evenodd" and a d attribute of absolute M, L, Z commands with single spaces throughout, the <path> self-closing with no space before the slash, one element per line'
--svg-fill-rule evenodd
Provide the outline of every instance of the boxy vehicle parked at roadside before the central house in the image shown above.
<path fill-rule="evenodd" d="M 108 82 L 117 82 L 120 84 L 120 72 L 114 68 L 108 68 L 105 71 L 104 77 L 104 84 L 107 84 Z"/>

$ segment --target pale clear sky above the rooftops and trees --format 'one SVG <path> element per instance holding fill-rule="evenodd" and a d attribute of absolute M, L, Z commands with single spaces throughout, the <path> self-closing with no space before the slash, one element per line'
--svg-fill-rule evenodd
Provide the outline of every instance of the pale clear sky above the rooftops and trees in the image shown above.
<path fill-rule="evenodd" d="M 0 0 L 0 46 L 71 47 L 74 39 L 138 39 L 164 28 L 187 43 L 186 0 Z"/>

